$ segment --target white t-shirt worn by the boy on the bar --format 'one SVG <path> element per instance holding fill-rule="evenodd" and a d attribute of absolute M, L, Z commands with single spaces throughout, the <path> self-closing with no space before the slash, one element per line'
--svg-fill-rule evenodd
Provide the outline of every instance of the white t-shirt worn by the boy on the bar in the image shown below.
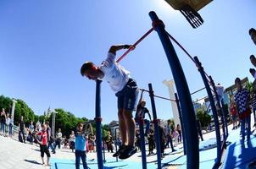
<path fill-rule="evenodd" d="M 108 57 L 99 67 L 104 73 L 103 80 L 106 80 L 114 92 L 122 90 L 127 84 L 130 77 L 130 72 L 121 67 L 115 62 L 115 55 L 111 52 Z"/>

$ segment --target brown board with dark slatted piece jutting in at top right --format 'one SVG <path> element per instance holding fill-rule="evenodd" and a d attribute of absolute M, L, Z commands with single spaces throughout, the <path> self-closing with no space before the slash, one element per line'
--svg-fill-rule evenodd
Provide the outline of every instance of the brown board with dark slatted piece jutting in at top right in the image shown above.
<path fill-rule="evenodd" d="M 213 0 L 165 0 L 172 8 L 179 10 L 186 18 L 192 28 L 203 25 L 203 18 L 198 14 L 198 10 L 206 6 Z"/>

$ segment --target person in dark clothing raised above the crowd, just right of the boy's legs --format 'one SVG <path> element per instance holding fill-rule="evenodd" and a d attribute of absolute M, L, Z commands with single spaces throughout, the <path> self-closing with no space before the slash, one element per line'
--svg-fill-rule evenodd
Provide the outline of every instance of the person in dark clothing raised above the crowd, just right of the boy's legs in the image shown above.
<path fill-rule="evenodd" d="M 145 115 L 148 115 L 149 120 L 147 120 Z M 144 119 L 144 123 L 146 123 L 146 131 L 145 131 L 145 136 L 147 136 L 150 128 L 150 122 L 151 120 L 151 115 L 146 107 L 146 101 L 142 99 L 142 101 L 137 105 L 136 107 L 136 115 L 135 115 L 135 122 L 139 123 L 139 119 L 142 117 Z"/>

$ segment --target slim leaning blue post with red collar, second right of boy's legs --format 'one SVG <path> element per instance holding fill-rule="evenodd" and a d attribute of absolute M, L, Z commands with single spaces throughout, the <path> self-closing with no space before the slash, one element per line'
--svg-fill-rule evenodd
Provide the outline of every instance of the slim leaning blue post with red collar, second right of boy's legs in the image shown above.
<path fill-rule="evenodd" d="M 154 124 L 154 137 L 156 138 L 157 145 L 157 157 L 158 157 L 158 169 L 161 169 L 161 145 L 160 145 L 160 136 L 159 136 L 159 121 L 157 117 L 156 106 L 153 98 L 153 87 L 152 84 L 148 84 L 149 96 L 151 100 L 152 113 L 153 113 L 153 124 Z"/>

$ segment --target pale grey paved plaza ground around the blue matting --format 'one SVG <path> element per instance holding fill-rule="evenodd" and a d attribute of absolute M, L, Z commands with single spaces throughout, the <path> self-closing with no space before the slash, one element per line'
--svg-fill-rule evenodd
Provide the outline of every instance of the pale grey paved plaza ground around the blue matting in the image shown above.
<path fill-rule="evenodd" d="M 205 134 L 204 138 L 209 139 L 213 136 L 214 133 Z M 182 153 L 182 144 L 179 144 L 176 147 L 177 152 L 171 154 L 170 149 L 165 150 L 166 156 L 165 161 L 170 161 L 170 157 L 181 156 Z M 68 149 L 57 150 L 56 155 L 52 155 L 53 166 L 51 168 L 55 169 L 55 161 L 75 161 L 75 155 Z M 141 162 L 141 153 L 138 152 L 136 155 L 133 155 L 129 161 L 124 161 L 126 163 Z M 87 161 L 89 164 L 97 164 L 96 153 L 88 153 Z M 107 163 L 115 161 L 115 158 L 112 157 L 111 153 L 106 152 Z M 147 163 L 155 165 L 157 161 L 156 155 L 147 156 Z M 71 162 L 71 163 L 72 163 Z M 72 166 L 73 167 L 73 166 Z M 42 166 L 42 161 L 40 157 L 39 146 L 36 144 L 23 144 L 18 142 L 16 139 L 10 139 L 3 136 L 0 136 L 0 169 L 49 169 L 49 166 Z"/>

